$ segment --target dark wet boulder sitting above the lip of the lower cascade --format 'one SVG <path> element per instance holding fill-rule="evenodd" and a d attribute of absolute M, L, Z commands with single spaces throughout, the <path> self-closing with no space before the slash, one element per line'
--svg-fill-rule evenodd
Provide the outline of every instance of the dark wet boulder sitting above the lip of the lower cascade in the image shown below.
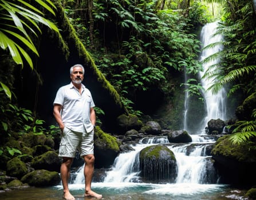
<path fill-rule="evenodd" d="M 170 143 L 192 142 L 191 136 L 185 130 L 174 130 L 168 131 L 166 133 Z"/>

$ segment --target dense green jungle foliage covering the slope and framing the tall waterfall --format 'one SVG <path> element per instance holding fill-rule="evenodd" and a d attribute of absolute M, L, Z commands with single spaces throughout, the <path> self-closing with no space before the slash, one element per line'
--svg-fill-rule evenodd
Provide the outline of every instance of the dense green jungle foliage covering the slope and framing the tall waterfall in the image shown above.
<path fill-rule="evenodd" d="M 197 59 L 200 42 L 196 33 L 200 26 L 216 19 L 220 21 L 218 33 L 225 38 L 222 42 L 225 48 L 207 58 L 220 58 L 219 65 L 212 66 L 215 73 L 204 75 L 216 80 L 209 90 L 215 93 L 229 85 L 229 95 L 239 91 L 246 98 L 255 93 L 256 17 L 251 0 L 56 1 L 64 7 L 78 37 L 130 113 L 143 114 L 134 103 L 139 91 L 157 87 L 168 95 L 173 90 L 168 82 L 172 75 L 184 71 L 196 75 L 202 70 L 202 63 Z M 33 5 L 29 2 L 0 0 L 1 137 L 9 137 L 12 131 L 56 133 L 56 127 L 45 130 L 43 119 L 36 119 L 36 114 L 17 105 L 15 94 L 11 95 L 13 80 L 5 76 L 6 72 L 11 73 L 4 68 L 5 62 L 33 68 L 31 57 L 37 54 L 33 38 L 40 37 L 41 25 L 58 31 L 54 17 L 49 20 L 44 15 L 48 12 L 54 16 L 54 1 L 37 0 Z M 29 53 L 25 49 L 30 49 Z M 200 84 L 188 83 L 188 91 L 200 95 Z M 249 121 L 237 122 L 234 142 L 245 142 L 256 136 L 255 119 L 254 111 Z M 18 153 L 15 149 L 8 151 Z"/>

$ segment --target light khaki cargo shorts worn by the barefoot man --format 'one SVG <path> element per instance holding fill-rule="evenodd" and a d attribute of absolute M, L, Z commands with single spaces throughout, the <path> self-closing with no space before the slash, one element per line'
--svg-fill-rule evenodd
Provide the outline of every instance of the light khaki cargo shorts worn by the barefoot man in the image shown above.
<path fill-rule="evenodd" d="M 93 135 L 94 130 L 92 130 L 90 133 L 83 134 L 64 127 L 61 135 L 58 156 L 74 158 L 76 156 L 76 150 L 79 151 L 81 157 L 84 155 L 93 154 Z"/>

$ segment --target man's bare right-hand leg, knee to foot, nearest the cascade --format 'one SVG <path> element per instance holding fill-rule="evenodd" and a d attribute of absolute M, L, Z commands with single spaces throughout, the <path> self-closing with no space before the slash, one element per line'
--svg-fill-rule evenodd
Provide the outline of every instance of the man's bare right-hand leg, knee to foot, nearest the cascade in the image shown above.
<path fill-rule="evenodd" d="M 97 194 L 92 191 L 92 176 L 94 171 L 94 155 L 89 154 L 84 156 L 85 167 L 84 167 L 84 176 L 85 176 L 85 197 L 91 196 L 96 198 L 101 198 L 101 194 Z"/>

